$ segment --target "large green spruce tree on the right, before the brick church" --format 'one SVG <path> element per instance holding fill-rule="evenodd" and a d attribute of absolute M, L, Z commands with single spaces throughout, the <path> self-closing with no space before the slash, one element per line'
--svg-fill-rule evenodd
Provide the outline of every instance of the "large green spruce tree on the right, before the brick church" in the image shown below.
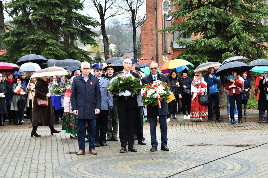
<path fill-rule="evenodd" d="M 185 51 L 176 58 L 195 66 L 207 61 L 222 62 L 231 56 L 250 60 L 266 58 L 268 51 L 268 8 L 264 0 L 171 0 L 179 7 L 169 15 L 183 18 L 180 24 L 167 27 L 168 33 L 179 31 L 178 44 Z M 159 30 L 163 32 L 163 30 Z M 180 38 L 197 38 L 191 41 Z"/>

